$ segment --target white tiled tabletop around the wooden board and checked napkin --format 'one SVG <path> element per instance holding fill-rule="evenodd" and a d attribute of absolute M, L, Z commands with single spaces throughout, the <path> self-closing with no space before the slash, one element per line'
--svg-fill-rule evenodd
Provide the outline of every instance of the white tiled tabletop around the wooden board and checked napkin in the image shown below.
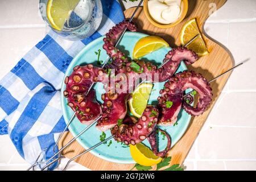
<path fill-rule="evenodd" d="M 138 2 L 123 2 L 126 8 Z M 256 1 L 229 0 L 205 23 L 204 29 L 223 44 L 236 63 L 250 59 L 230 76 L 214 109 L 184 162 L 187 170 L 256 170 Z M 38 1 L 0 1 L 2 78 L 45 34 Z M 31 28 L 33 27 L 33 28 Z M 0 136 L 0 170 L 29 166 L 9 137 Z M 62 164 L 61 164 L 62 165 Z M 60 167 L 61 167 L 60 165 Z M 64 165 L 64 161 L 63 161 Z M 72 163 L 69 169 L 86 168 Z"/>

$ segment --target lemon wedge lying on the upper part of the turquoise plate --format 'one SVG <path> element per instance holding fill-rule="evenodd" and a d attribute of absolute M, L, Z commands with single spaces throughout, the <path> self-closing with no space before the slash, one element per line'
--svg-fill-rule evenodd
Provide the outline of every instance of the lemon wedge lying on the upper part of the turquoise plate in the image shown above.
<path fill-rule="evenodd" d="M 169 44 L 159 36 L 146 36 L 138 40 L 133 49 L 133 59 L 138 59 L 148 53 L 162 47 L 169 47 Z"/>

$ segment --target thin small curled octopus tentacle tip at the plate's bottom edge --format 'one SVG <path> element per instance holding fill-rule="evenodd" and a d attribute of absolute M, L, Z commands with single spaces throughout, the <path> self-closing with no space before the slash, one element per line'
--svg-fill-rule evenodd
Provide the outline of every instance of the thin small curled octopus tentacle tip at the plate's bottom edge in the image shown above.
<path fill-rule="evenodd" d="M 167 137 L 167 146 L 166 148 L 164 148 L 163 151 L 158 151 L 158 144 L 156 142 L 156 130 L 158 130 L 159 132 L 163 133 L 164 135 L 166 135 Z M 148 142 L 150 143 L 150 146 L 152 148 L 152 151 L 154 152 L 155 155 L 163 158 L 164 156 L 166 156 L 167 152 L 171 149 L 171 137 L 170 135 L 161 129 L 155 129 L 147 138 Z"/>

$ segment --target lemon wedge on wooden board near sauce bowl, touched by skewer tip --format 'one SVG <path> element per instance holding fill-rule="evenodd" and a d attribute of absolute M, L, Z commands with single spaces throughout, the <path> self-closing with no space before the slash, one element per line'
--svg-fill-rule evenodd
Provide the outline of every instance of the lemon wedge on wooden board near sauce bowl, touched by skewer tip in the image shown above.
<path fill-rule="evenodd" d="M 205 46 L 204 40 L 202 38 L 202 35 L 199 31 L 199 28 L 196 23 L 196 19 L 192 19 L 189 22 L 187 22 L 184 27 L 181 30 L 180 35 L 180 43 L 182 46 L 184 46 L 186 43 L 189 42 L 194 36 L 197 34 L 200 34 L 193 42 L 191 42 L 187 48 L 192 49 L 197 53 L 199 56 L 208 55 L 209 51 L 207 47 Z"/>

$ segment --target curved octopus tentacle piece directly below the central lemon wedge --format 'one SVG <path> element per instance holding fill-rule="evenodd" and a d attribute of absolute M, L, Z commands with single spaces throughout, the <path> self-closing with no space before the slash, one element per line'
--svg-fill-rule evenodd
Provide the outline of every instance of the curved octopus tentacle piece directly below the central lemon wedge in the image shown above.
<path fill-rule="evenodd" d="M 147 105 L 142 117 L 136 123 L 115 125 L 111 133 L 115 140 L 124 142 L 127 145 L 140 143 L 154 131 L 158 121 L 158 114 L 158 109 L 155 106 Z"/>

